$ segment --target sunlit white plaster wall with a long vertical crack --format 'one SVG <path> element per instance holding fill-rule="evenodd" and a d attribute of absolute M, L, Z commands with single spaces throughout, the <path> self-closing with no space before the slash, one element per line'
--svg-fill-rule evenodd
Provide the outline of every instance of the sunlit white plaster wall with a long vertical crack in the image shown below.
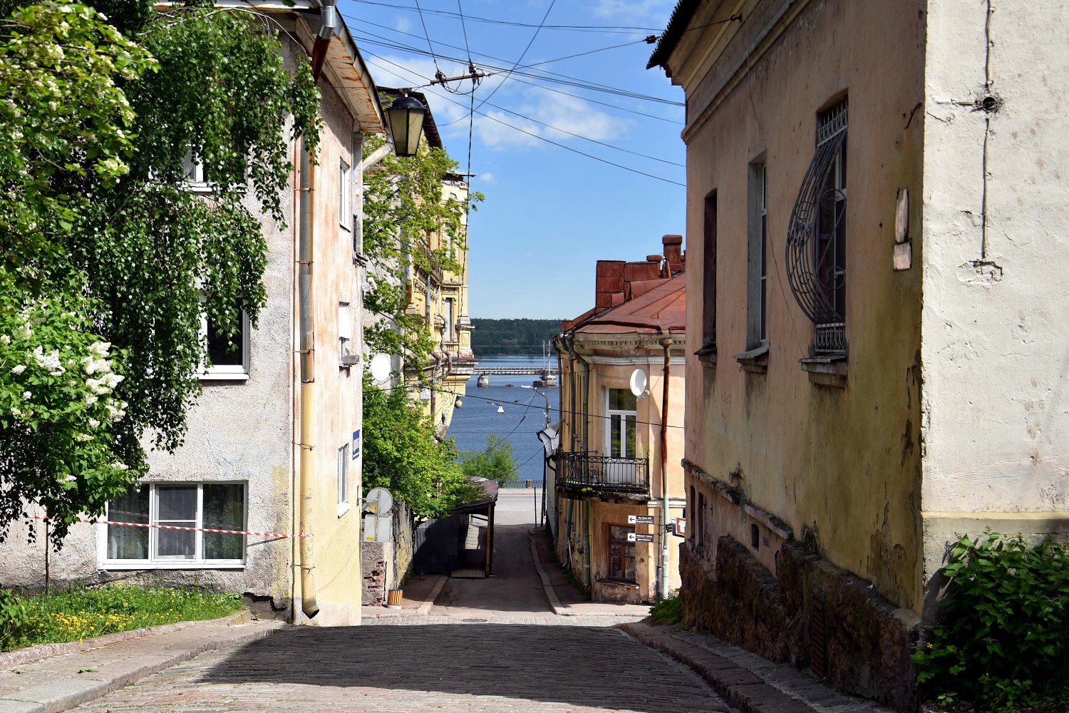
<path fill-rule="evenodd" d="M 928 13 L 930 576 L 956 531 L 1069 530 L 1069 7 L 930 2 Z"/>

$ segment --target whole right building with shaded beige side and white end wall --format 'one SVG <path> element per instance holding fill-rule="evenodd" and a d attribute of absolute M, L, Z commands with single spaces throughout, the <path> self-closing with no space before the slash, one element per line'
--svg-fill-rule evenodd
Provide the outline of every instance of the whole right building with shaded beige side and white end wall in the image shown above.
<path fill-rule="evenodd" d="M 683 0 L 685 618 L 908 710 L 955 532 L 1069 530 L 1060 3 Z M 997 10 L 997 12 L 996 12 Z"/>

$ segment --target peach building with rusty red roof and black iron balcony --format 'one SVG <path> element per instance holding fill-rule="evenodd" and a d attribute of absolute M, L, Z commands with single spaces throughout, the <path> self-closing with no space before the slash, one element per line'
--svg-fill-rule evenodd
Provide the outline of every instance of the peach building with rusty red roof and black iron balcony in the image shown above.
<path fill-rule="evenodd" d="M 595 307 L 553 341 L 561 420 L 551 529 L 558 559 L 599 601 L 654 602 L 663 586 L 679 588 L 664 525 L 684 505 L 681 244 L 666 235 L 664 257 L 599 261 Z M 648 388 L 636 394 L 638 370 Z"/>

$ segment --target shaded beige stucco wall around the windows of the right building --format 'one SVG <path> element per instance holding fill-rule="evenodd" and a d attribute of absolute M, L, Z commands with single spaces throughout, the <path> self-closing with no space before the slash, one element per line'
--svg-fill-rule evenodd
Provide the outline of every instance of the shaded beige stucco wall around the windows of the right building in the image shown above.
<path fill-rule="evenodd" d="M 687 354 L 701 346 L 702 273 L 693 266 L 703 261 L 702 212 L 711 191 L 718 208 L 717 362 L 688 360 L 686 458 L 786 521 L 794 537 L 811 533 L 827 559 L 904 607 L 916 607 L 920 595 L 920 245 L 913 247 L 914 268 L 904 272 L 892 269 L 892 250 L 897 193 L 921 190 L 925 122 L 914 107 L 924 99 L 924 4 L 911 7 L 763 3 L 741 27 L 728 26 L 721 38 L 727 50 L 711 72 L 706 55 L 704 64 L 673 75 L 688 103 Z M 759 28 L 780 10 L 783 34 L 762 44 Z M 729 69 L 740 66 L 748 72 L 732 79 Z M 816 145 L 817 112 L 843 93 L 850 346 L 840 388 L 811 383 L 800 367 L 814 327 L 788 286 L 785 238 Z M 762 154 L 770 352 L 768 372 L 752 373 L 732 355 L 747 347 L 747 167 Z M 910 221 L 918 233 L 919 210 Z M 707 502 L 721 498 L 695 484 Z M 735 513 L 713 520 L 713 542 L 731 534 L 749 543 L 753 524 L 769 537 L 759 518 Z"/>

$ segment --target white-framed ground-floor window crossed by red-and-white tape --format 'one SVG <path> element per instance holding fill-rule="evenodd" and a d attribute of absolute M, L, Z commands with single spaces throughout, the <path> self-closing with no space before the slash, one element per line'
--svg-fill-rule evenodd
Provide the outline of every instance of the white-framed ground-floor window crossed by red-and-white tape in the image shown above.
<path fill-rule="evenodd" d="M 244 530 L 246 511 L 245 483 L 144 483 L 108 500 L 100 559 L 137 569 L 244 564 L 245 536 L 204 530 Z M 175 527 L 188 529 L 167 529 Z"/>

